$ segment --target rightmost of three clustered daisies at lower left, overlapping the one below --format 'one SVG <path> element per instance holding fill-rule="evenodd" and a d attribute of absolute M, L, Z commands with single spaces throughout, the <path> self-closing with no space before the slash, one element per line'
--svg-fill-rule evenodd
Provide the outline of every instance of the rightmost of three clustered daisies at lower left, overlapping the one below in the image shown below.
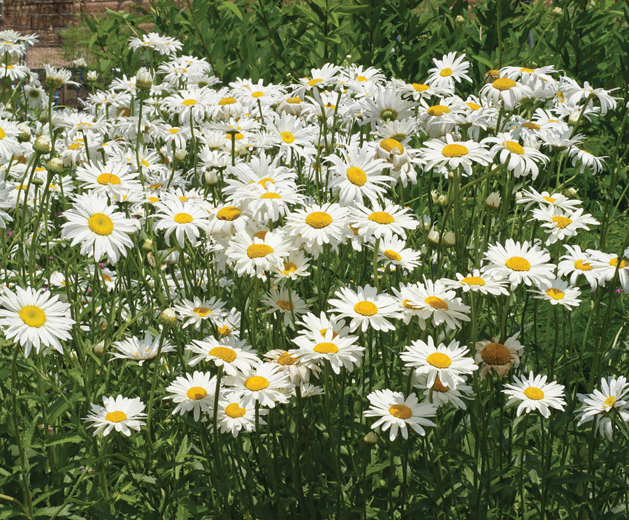
<path fill-rule="evenodd" d="M 287 403 L 288 393 L 294 386 L 288 373 L 271 363 L 262 363 L 245 373 L 228 376 L 225 385 L 240 396 L 245 408 L 252 408 L 256 403 L 268 408 L 275 408 L 277 403 Z"/>

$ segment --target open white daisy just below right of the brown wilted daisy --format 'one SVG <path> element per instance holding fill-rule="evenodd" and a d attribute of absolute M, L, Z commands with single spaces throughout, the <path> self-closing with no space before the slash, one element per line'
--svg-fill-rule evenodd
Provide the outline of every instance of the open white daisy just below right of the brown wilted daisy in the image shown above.
<path fill-rule="evenodd" d="M 563 385 L 558 385 L 556 381 L 547 383 L 546 380 L 546 376 L 533 376 L 532 371 L 528 377 L 516 376 L 514 384 L 507 384 L 503 389 L 503 394 L 509 396 L 507 406 L 519 402 L 516 412 L 518 417 L 524 411 L 529 413 L 537 410 L 543 417 L 549 417 L 551 408 L 563 410 Z"/>

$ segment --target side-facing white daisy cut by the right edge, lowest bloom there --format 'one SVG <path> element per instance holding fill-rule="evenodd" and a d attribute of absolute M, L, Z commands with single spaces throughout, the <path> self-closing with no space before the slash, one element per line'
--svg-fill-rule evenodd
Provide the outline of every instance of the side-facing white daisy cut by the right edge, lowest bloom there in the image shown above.
<path fill-rule="evenodd" d="M 578 410 L 577 426 L 594 421 L 594 428 L 600 436 L 613 439 L 614 422 L 609 415 L 615 410 L 624 422 L 629 423 L 629 403 L 626 399 L 629 392 L 627 378 L 608 377 L 600 380 L 600 390 L 594 389 L 591 394 L 577 394 L 583 406 Z"/>

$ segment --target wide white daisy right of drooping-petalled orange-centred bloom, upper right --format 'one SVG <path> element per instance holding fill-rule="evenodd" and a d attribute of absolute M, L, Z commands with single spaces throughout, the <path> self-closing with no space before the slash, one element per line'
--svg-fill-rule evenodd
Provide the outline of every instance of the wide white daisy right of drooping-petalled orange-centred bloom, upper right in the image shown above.
<path fill-rule="evenodd" d="M 488 165 L 491 153 L 475 141 L 455 141 L 451 134 L 445 135 L 445 142 L 431 139 L 424 142 L 421 158 L 426 161 L 426 170 L 437 168 L 438 172 L 448 174 L 449 171 L 461 166 L 462 174 L 472 174 L 472 164 Z M 463 173 L 464 172 L 464 173 Z"/>

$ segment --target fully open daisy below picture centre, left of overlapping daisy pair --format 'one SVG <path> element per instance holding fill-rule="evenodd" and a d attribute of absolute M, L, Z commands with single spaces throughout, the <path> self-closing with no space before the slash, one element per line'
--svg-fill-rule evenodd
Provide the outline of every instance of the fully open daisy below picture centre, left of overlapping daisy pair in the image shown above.
<path fill-rule="evenodd" d="M 338 298 L 329 300 L 331 312 L 339 313 L 342 318 L 349 318 L 349 329 L 353 332 L 361 329 L 365 332 L 368 327 L 375 330 L 393 330 L 393 325 L 387 318 L 399 318 L 399 307 L 393 297 L 384 293 L 378 294 L 378 290 L 371 285 L 359 287 L 356 292 L 347 287 L 337 290 L 334 295 Z"/>

